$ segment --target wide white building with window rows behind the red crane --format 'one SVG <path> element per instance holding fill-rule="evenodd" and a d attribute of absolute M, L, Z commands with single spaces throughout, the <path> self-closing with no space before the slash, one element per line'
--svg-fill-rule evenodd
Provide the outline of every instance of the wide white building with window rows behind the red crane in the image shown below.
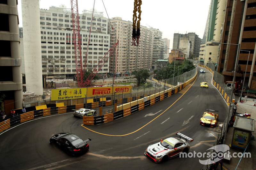
<path fill-rule="evenodd" d="M 85 69 L 92 71 L 109 50 L 108 19 L 102 16 L 102 12 L 94 11 L 93 17 L 91 11 L 84 10 L 83 12 L 79 14 L 81 52 L 85 60 L 88 47 Z M 76 61 L 72 44 L 71 10 L 59 7 L 50 7 L 49 10 L 40 9 L 40 30 L 43 76 L 54 78 L 54 76 L 67 75 L 67 77 L 75 78 Z M 87 44 L 89 39 L 90 43 Z M 98 70 L 97 75 L 105 76 L 108 66 L 109 60 Z"/>

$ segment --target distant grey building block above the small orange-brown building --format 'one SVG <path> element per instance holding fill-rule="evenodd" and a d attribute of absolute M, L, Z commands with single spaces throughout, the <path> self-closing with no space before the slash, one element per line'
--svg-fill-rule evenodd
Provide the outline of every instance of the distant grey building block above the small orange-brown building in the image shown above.
<path fill-rule="evenodd" d="M 191 58 L 192 55 L 198 57 L 201 42 L 202 39 L 196 33 L 174 33 L 172 49 L 182 49 L 186 58 Z"/>

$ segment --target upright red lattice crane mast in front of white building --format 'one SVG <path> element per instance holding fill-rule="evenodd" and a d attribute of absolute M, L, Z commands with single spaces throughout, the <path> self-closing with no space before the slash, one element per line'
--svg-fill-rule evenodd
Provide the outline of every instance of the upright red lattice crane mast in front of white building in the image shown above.
<path fill-rule="evenodd" d="M 83 87 L 84 72 L 83 72 L 83 60 L 81 56 L 82 55 L 81 37 L 80 37 L 77 0 L 71 0 L 71 12 L 72 12 L 71 15 L 72 15 L 72 24 L 73 24 L 72 43 L 74 43 L 74 49 L 75 49 L 77 84 L 78 84 L 78 87 Z"/>

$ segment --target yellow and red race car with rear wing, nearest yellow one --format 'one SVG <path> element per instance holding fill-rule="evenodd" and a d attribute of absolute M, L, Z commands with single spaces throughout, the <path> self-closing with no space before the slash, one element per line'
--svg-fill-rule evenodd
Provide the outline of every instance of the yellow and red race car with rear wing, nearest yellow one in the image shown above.
<path fill-rule="evenodd" d="M 219 115 L 215 112 L 218 110 L 205 109 L 203 117 L 200 119 L 200 124 L 203 126 L 216 127 Z"/>

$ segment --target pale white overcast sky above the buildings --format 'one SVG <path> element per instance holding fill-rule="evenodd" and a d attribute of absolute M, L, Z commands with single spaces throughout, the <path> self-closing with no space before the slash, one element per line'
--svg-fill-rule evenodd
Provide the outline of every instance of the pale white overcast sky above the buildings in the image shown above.
<path fill-rule="evenodd" d="M 92 10 L 93 0 L 77 1 L 79 14 L 83 10 Z M 61 4 L 71 8 L 70 0 L 40 0 L 41 9 L 49 10 L 50 6 L 59 7 Z M 106 18 L 121 17 L 132 21 L 133 4 L 134 0 L 95 0 L 94 10 L 103 12 Z M 140 25 L 162 31 L 162 38 L 169 39 L 172 48 L 174 33 L 193 32 L 203 38 L 209 7 L 210 0 L 142 0 Z M 18 0 L 18 12 L 21 27 L 21 0 Z"/>

